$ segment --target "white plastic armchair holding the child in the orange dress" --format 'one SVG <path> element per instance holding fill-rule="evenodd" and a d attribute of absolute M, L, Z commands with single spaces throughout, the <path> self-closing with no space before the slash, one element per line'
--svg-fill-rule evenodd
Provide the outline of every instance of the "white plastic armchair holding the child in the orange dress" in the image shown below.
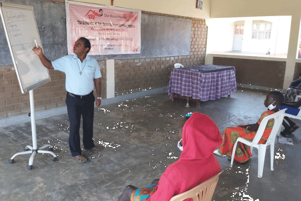
<path fill-rule="evenodd" d="M 236 147 L 237 147 L 237 143 L 241 142 L 243 144 L 246 144 L 248 146 L 251 147 L 251 152 L 253 147 L 258 149 L 258 173 L 257 176 L 258 178 L 262 177 L 262 173 L 263 173 L 263 165 L 264 165 L 264 158 L 265 158 L 265 151 L 266 151 L 266 147 L 268 145 L 270 145 L 270 156 L 271 156 L 271 170 L 274 171 L 273 165 L 274 165 L 274 145 L 275 145 L 275 138 L 276 138 L 276 134 L 278 133 L 278 131 L 280 130 L 280 126 L 282 124 L 283 121 L 283 117 L 284 117 L 284 113 L 287 109 L 283 109 L 280 110 L 272 115 L 269 115 L 267 117 L 265 117 L 260 125 L 259 128 L 256 132 L 255 138 L 253 141 L 250 141 L 248 139 L 239 137 L 237 138 L 234 147 L 233 147 L 233 151 L 232 151 L 232 158 L 231 158 L 231 163 L 230 163 L 230 167 L 232 167 L 233 165 L 233 160 L 234 160 L 234 155 L 235 155 L 235 151 L 236 151 Z M 286 114 L 285 114 L 286 115 Z M 268 120 L 270 119 L 274 119 L 274 126 L 272 129 L 272 132 L 270 133 L 267 141 L 265 144 L 258 144 L 260 141 L 260 138 L 263 135 L 263 132 L 265 130 L 266 124 L 268 122 Z"/>

